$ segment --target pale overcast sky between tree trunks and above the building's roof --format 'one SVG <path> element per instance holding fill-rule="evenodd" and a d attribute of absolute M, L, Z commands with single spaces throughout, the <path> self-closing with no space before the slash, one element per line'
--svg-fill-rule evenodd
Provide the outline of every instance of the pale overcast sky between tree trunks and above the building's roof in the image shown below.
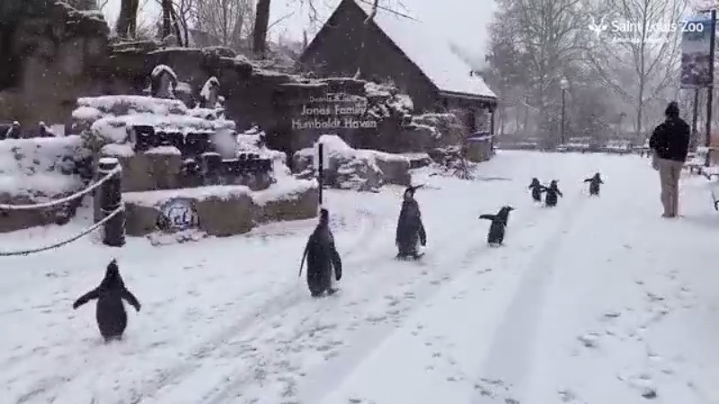
<path fill-rule="evenodd" d="M 309 23 L 307 0 L 272 0 L 271 22 L 281 22 L 271 28 L 271 37 L 284 34 L 297 40 Z M 339 0 L 314 0 L 319 4 L 323 21 L 333 12 Z M 419 17 L 434 29 L 443 30 L 444 35 L 453 39 L 463 48 L 484 55 L 487 40 L 487 26 L 492 21 L 494 0 L 380 0 L 380 4 L 393 10 Z M 117 19 L 120 0 L 110 0 L 104 12 L 111 21 Z M 144 13 L 151 17 L 159 12 L 157 0 L 147 0 Z M 289 18 L 283 18 L 292 14 Z M 310 39 L 312 36 L 310 36 Z"/>

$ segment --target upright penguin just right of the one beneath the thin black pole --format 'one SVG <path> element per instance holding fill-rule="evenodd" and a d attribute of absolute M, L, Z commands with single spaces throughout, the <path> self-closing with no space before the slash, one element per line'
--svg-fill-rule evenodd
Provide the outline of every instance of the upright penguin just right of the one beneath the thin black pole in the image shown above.
<path fill-rule="evenodd" d="M 404 200 L 402 201 L 402 209 L 399 212 L 395 235 L 395 245 L 398 250 L 397 259 L 406 259 L 408 257 L 419 259 L 422 257 L 419 246 L 424 247 L 427 245 L 427 233 L 424 232 L 420 205 L 414 199 L 414 191 L 421 187 L 422 185 L 404 190 Z"/>

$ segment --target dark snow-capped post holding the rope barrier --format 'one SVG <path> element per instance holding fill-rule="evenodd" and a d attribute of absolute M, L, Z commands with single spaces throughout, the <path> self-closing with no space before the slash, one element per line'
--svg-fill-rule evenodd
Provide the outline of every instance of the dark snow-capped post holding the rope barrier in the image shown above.
<path fill-rule="evenodd" d="M 106 180 L 100 188 L 100 209 L 102 217 L 105 218 L 122 206 L 122 166 L 120 161 L 112 157 L 103 157 L 98 163 L 100 178 L 104 178 L 113 170 L 115 172 L 111 179 Z M 112 217 L 104 225 L 102 243 L 111 247 L 122 247 L 125 245 L 125 212 L 120 212 Z"/>

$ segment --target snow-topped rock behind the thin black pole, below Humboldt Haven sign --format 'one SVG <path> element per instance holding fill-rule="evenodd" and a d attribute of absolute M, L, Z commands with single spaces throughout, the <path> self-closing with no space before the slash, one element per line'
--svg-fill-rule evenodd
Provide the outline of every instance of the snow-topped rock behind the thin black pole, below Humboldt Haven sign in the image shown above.
<path fill-rule="evenodd" d="M 325 183 L 333 188 L 377 191 L 385 183 L 408 185 L 412 181 L 410 162 L 404 156 L 374 150 L 356 150 L 340 136 L 323 135 L 318 142 L 324 145 L 329 166 L 324 167 Z M 301 177 L 314 175 L 312 148 L 297 151 L 293 156 L 296 171 Z"/>

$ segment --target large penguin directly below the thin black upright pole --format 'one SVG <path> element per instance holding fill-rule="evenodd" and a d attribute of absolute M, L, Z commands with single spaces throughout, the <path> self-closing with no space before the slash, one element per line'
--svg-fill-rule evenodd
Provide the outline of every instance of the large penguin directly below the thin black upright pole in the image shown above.
<path fill-rule="evenodd" d="M 330 214 L 327 209 L 320 210 L 320 223 L 315 232 L 309 236 L 305 253 L 299 264 L 299 276 L 302 276 L 302 266 L 307 259 L 307 286 L 312 297 L 318 297 L 324 292 L 334 294 L 337 289 L 333 287 L 333 273 L 336 280 L 342 279 L 342 259 L 334 248 L 334 236 L 330 230 Z"/>

